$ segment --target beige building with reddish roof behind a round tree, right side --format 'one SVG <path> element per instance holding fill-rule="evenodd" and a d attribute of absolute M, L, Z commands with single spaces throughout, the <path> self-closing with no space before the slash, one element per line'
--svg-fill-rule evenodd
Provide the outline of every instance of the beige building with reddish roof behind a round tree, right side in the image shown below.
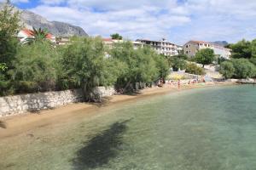
<path fill-rule="evenodd" d="M 230 59 L 230 48 L 224 48 L 212 42 L 189 41 L 183 45 L 183 53 L 187 54 L 189 57 L 194 57 L 199 50 L 204 48 L 213 49 L 214 54 L 216 54 L 218 57 Z"/>

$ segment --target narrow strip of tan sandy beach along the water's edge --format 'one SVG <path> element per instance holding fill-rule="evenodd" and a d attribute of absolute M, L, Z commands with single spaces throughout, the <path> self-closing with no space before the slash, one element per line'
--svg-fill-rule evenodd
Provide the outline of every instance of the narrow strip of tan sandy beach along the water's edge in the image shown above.
<path fill-rule="evenodd" d="M 0 139 L 26 133 L 27 131 L 38 127 L 53 126 L 59 123 L 71 122 L 82 117 L 90 118 L 90 116 L 96 115 L 97 111 L 100 111 L 101 109 L 109 109 L 111 106 L 123 104 L 131 100 L 142 99 L 153 95 L 176 93 L 194 88 L 210 88 L 230 85 L 237 85 L 237 83 L 209 82 L 206 84 L 182 86 L 181 88 L 165 85 L 163 88 L 146 88 L 139 94 L 134 95 L 113 95 L 107 97 L 102 104 L 75 103 L 57 107 L 53 110 L 39 111 L 38 113 L 27 112 L 26 114 L 0 117 L 0 121 L 4 122 L 4 125 L 6 126 L 6 128 L 0 127 Z"/>

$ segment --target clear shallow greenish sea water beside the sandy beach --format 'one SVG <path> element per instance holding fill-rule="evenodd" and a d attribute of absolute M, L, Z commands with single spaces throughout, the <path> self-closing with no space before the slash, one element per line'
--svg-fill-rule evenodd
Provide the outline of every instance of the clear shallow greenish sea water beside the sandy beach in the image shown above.
<path fill-rule="evenodd" d="M 0 139 L 0 169 L 256 169 L 253 86 L 138 99 L 85 117 Z"/>

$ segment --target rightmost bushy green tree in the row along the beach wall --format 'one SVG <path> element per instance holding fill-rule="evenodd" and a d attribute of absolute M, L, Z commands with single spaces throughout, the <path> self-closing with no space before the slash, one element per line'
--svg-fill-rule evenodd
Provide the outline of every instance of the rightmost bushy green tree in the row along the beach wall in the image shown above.
<path fill-rule="evenodd" d="M 118 89 L 126 90 L 135 82 L 152 82 L 166 78 L 168 65 L 165 57 L 156 54 L 152 48 L 134 49 L 131 42 L 123 42 L 111 50 L 111 56 L 125 65 L 116 82 Z"/>

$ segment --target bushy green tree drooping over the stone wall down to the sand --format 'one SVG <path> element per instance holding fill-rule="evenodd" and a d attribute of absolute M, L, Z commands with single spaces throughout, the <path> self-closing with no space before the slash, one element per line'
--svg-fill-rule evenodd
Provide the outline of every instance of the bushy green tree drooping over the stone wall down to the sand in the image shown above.
<path fill-rule="evenodd" d="M 104 54 L 104 45 L 100 37 L 77 38 L 68 45 L 61 59 L 63 78 L 83 88 L 86 101 L 96 101 L 94 89 L 97 86 L 108 86 L 114 82 L 113 75 L 108 72 L 108 58 Z M 108 62 L 107 62 L 108 63 Z M 109 77 L 111 80 L 108 81 Z"/>

